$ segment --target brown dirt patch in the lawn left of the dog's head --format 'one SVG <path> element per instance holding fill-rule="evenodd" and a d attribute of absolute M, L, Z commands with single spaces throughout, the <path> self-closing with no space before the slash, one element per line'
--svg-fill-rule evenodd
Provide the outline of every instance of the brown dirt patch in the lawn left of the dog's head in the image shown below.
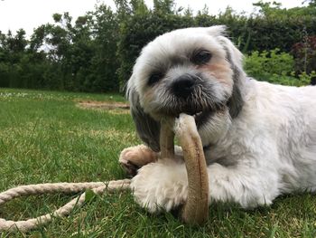
<path fill-rule="evenodd" d="M 108 102 L 96 100 L 82 100 L 78 106 L 83 109 L 124 109 L 129 110 L 129 104 L 123 102 Z"/>

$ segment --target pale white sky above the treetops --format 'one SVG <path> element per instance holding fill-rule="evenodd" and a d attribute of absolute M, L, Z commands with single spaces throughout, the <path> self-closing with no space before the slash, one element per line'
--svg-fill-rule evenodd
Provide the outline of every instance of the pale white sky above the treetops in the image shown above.
<path fill-rule="evenodd" d="M 272 2 L 273 0 L 271 0 Z M 52 22 L 54 13 L 70 12 L 76 19 L 79 15 L 92 11 L 94 6 L 105 3 L 114 8 L 113 0 L 0 0 L 0 31 L 6 33 L 9 29 L 13 32 L 23 28 L 28 35 L 33 33 L 33 28 Z M 230 5 L 237 12 L 251 13 L 254 9 L 252 3 L 257 0 L 176 0 L 177 6 L 190 6 L 195 12 L 208 5 L 210 14 L 218 14 Z M 269 2 L 269 1 L 264 1 Z M 302 0 L 278 0 L 283 7 L 291 8 L 302 5 Z M 153 5 L 153 0 L 145 0 L 148 6 Z"/>

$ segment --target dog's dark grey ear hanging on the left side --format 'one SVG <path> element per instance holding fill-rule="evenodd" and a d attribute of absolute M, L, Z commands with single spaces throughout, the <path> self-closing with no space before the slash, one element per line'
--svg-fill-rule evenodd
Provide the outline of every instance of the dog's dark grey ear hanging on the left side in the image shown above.
<path fill-rule="evenodd" d="M 159 152 L 160 123 L 144 112 L 139 101 L 139 94 L 131 83 L 127 86 L 126 96 L 130 102 L 131 114 L 135 121 L 138 136 L 153 151 Z"/>

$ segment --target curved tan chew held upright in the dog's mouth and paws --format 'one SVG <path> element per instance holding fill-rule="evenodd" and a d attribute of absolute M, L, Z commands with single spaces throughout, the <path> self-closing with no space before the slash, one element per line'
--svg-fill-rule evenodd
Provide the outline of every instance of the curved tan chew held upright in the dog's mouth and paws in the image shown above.
<path fill-rule="evenodd" d="M 174 147 L 171 148 L 174 136 L 168 123 L 162 123 L 161 132 L 162 157 L 174 155 Z M 187 224 L 203 224 L 209 217 L 209 177 L 195 119 L 181 114 L 175 120 L 174 132 L 181 144 L 188 175 L 188 198 L 181 208 L 181 219 Z"/>

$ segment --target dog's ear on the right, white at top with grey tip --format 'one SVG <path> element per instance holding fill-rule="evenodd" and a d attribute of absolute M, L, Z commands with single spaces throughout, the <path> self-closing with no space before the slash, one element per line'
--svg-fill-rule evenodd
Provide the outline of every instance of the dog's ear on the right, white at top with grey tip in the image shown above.
<path fill-rule="evenodd" d="M 218 39 L 225 49 L 227 61 L 230 64 L 231 70 L 233 71 L 233 92 L 228 100 L 227 105 L 229 108 L 230 117 L 234 119 L 237 118 L 244 105 L 244 99 L 241 94 L 243 80 L 246 77 L 246 74 L 242 69 L 243 54 L 239 52 L 236 46 L 225 36 L 219 36 Z"/>

